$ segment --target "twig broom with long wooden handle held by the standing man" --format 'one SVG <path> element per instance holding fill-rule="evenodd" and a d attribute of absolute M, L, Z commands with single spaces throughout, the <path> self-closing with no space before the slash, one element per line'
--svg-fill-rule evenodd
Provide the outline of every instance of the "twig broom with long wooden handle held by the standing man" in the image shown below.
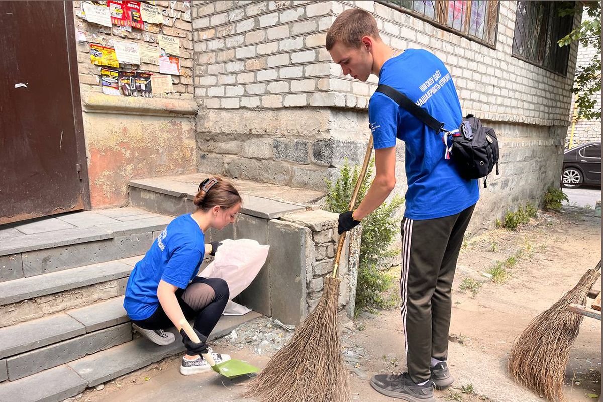
<path fill-rule="evenodd" d="M 349 210 L 356 204 L 372 151 L 371 136 Z M 323 294 L 314 311 L 297 327 L 291 341 L 274 355 L 251 382 L 245 397 L 257 398 L 264 402 L 350 400 L 348 374 L 341 356 L 337 325 L 337 302 L 341 282 L 337 278 L 337 269 L 345 240 L 346 232 L 339 237 L 333 274 L 326 278 Z"/>

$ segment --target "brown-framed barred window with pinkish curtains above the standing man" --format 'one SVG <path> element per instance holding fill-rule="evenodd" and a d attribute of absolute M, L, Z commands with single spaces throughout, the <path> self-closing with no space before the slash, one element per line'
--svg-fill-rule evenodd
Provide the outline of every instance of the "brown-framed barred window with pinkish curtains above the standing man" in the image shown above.
<path fill-rule="evenodd" d="M 494 48 L 499 0 L 377 0 Z"/>

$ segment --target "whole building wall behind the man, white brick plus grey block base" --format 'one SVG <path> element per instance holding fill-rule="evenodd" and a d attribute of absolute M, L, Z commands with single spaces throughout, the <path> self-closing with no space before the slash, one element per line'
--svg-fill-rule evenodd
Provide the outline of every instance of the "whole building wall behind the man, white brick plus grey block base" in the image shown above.
<path fill-rule="evenodd" d="M 496 49 L 374 1 L 195 1 L 200 169 L 324 189 L 322 177 L 344 157 L 360 162 L 376 80 L 343 77 L 323 48 L 332 20 L 348 7 L 373 13 L 394 48 L 440 57 L 464 112 L 499 134 L 501 175 L 482 192 L 470 230 L 492 224 L 507 207 L 537 203 L 558 183 L 577 46 L 565 76 L 514 58 L 515 1 L 500 4 Z M 402 143 L 398 154 L 397 191 L 404 193 Z"/>

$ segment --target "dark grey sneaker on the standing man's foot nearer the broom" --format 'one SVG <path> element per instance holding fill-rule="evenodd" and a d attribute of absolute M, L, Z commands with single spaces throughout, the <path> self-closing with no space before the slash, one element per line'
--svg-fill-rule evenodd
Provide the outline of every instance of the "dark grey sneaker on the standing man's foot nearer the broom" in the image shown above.
<path fill-rule="evenodd" d="M 379 394 L 391 398 L 398 398 L 407 402 L 435 402 L 434 385 L 431 380 L 425 385 L 416 385 L 406 373 L 400 375 L 373 375 L 371 386 Z"/>

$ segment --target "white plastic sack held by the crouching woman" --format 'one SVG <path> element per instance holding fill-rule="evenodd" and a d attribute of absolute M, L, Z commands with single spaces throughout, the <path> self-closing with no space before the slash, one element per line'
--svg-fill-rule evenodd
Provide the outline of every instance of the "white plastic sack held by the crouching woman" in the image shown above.
<path fill-rule="evenodd" d="M 251 239 L 223 240 L 213 261 L 198 276 L 225 280 L 233 300 L 256 278 L 269 249 Z"/>

